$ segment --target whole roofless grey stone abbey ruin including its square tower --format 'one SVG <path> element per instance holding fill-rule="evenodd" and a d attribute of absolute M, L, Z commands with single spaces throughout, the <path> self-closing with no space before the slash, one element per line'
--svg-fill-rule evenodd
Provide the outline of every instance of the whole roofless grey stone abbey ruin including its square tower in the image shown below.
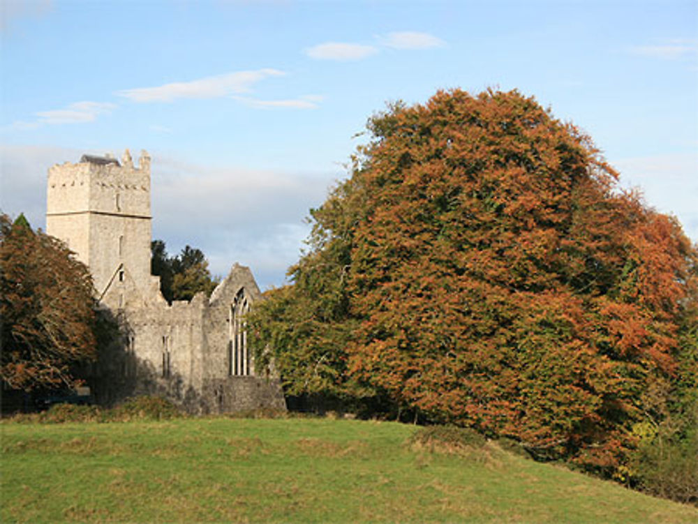
<path fill-rule="evenodd" d="M 119 336 L 91 370 L 98 401 L 159 394 L 189 412 L 285 409 L 279 380 L 255 368 L 245 315 L 260 290 L 234 264 L 211 297 L 168 304 L 151 269 L 150 157 L 84 155 L 48 172 L 46 232 L 89 267 Z"/>

